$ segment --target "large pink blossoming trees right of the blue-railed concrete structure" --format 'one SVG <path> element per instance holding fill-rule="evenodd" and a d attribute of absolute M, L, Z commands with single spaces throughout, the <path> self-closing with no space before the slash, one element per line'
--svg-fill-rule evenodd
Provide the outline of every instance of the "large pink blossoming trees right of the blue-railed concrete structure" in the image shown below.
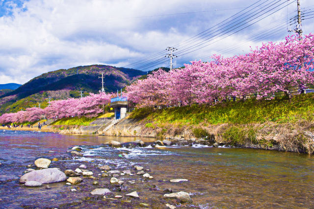
<path fill-rule="evenodd" d="M 211 62 L 194 61 L 184 69 L 158 70 L 127 87 L 128 99 L 138 107 L 211 103 L 255 94 L 289 97 L 291 87 L 313 84 L 314 34 L 288 36 L 280 43 L 263 44 L 250 53 L 230 58 L 214 55 Z"/>

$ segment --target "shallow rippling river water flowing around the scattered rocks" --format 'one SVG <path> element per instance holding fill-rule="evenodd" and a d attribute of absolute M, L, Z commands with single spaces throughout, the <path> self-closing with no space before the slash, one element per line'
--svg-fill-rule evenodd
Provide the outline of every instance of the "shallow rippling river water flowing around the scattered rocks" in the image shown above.
<path fill-rule="evenodd" d="M 127 149 L 104 145 L 113 139 L 121 142 L 135 140 L 1 130 L 0 208 L 138 208 L 139 203 L 147 203 L 152 208 L 165 208 L 169 203 L 179 208 L 202 209 L 314 206 L 313 156 L 205 146 Z M 70 156 L 66 151 L 75 145 L 83 148 L 83 157 L 52 162 L 51 167 L 75 170 L 83 163 L 94 172 L 99 185 L 92 185 L 95 180 L 86 178 L 76 186 L 67 186 L 65 182 L 50 184 L 51 189 L 19 184 L 19 175 L 24 174 L 28 164 L 33 165 L 41 157 L 63 159 L 62 156 Z M 131 169 L 132 173 L 135 173 L 133 165 L 141 165 L 150 169 L 154 179 L 144 180 L 136 174 L 120 176 L 119 179 L 126 182 L 120 191 L 110 185 L 110 177 L 99 177 L 102 173 L 98 166 L 105 164 L 121 171 Z M 178 178 L 189 181 L 169 182 Z M 129 184 L 131 180 L 136 183 Z M 109 188 L 113 197 L 136 190 L 140 198 L 95 199 L 89 192 L 99 187 Z M 76 188 L 77 192 L 71 192 L 71 188 Z M 193 203 L 180 205 L 175 200 L 163 198 L 167 188 L 188 192 Z"/>

